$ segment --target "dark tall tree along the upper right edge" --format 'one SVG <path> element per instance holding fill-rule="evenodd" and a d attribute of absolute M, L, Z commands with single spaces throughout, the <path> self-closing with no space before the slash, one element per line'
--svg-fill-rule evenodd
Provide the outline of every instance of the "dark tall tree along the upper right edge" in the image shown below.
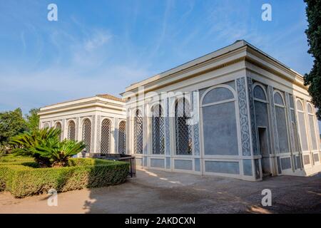
<path fill-rule="evenodd" d="M 309 43 L 310 53 L 314 58 L 314 65 L 310 73 L 305 74 L 305 86 L 309 87 L 312 103 L 317 107 L 317 118 L 321 120 L 321 1 L 305 0 L 306 14 L 309 26 L 305 33 Z"/>

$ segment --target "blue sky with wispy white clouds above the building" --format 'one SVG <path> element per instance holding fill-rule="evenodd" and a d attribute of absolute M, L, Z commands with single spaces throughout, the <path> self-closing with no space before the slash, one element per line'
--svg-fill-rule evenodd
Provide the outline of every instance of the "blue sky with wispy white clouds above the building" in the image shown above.
<path fill-rule="evenodd" d="M 299 0 L 0 0 L 0 111 L 126 86 L 245 39 L 300 73 L 310 71 Z M 58 21 L 47 6 L 58 6 Z M 261 6 L 272 6 L 262 21 Z"/>

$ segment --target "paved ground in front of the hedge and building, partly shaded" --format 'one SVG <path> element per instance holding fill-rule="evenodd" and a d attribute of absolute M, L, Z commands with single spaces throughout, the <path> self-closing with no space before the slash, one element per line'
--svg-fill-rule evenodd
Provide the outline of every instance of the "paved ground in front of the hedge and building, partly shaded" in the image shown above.
<path fill-rule="evenodd" d="M 272 191 L 272 206 L 263 207 L 263 189 Z M 14 199 L 0 193 L 0 213 L 321 213 L 321 174 L 313 177 L 268 177 L 246 182 L 156 170 L 139 170 L 123 185 Z"/>

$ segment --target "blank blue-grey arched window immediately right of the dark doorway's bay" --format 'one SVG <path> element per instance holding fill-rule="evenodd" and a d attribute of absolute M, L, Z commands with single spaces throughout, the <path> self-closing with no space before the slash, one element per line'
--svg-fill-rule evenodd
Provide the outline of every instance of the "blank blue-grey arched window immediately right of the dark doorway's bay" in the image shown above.
<path fill-rule="evenodd" d="M 275 118 L 277 122 L 277 138 L 280 152 L 290 152 L 287 137 L 287 120 L 283 95 L 279 91 L 274 92 Z"/>

